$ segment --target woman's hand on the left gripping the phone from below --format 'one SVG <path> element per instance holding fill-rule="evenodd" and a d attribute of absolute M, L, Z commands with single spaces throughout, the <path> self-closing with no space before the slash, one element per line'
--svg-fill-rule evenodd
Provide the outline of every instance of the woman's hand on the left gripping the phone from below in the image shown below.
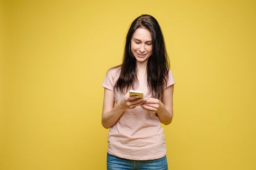
<path fill-rule="evenodd" d="M 120 99 L 117 104 L 123 109 L 133 109 L 146 101 L 146 98 L 138 99 L 138 96 L 130 96 L 128 92 Z"/>

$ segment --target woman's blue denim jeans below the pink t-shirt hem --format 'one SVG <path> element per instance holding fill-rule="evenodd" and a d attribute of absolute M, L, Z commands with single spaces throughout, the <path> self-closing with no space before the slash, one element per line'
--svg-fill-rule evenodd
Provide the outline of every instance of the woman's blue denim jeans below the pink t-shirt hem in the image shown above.
<path fill-rule="evenodd" d="M 168 170 L 166 156 L 154 160 L 130 160 L 107 153 L 107 170 Z"/>

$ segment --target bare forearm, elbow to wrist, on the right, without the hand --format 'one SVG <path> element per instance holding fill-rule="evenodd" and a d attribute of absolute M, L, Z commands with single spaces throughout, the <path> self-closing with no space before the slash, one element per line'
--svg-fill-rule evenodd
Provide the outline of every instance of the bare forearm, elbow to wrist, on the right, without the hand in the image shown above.
<path fill-rule="evenodd" d="M 172 122 L 173 119 L 173 111 L 166 109 L 164 104 L 160 102 L 160 109 L 158 110 L 158 118 L 160 119 L 160 122 L 168 125 Z"/>

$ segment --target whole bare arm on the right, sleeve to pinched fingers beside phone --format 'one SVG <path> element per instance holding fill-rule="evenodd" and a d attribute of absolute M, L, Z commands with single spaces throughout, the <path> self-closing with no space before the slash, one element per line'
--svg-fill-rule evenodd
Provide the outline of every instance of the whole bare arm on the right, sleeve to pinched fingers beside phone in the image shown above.
<path fill-rule="evenodd" d="M 155 98 L 149 98 L 147 99 L 147 102 L 141 105 L 141 107 L 149 112 L 157 112 L 160 122 L 168 125 L 173 119 L 173 91 L 174 85 L 170 85 L 164 90 L 162 101 Z"/>

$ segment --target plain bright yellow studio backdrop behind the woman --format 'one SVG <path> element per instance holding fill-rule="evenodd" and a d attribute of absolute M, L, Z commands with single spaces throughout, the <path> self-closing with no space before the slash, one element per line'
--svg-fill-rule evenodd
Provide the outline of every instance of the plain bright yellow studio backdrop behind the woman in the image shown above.
<path fill-rule="evenodd" d="M 0 14 L 0 170 L 106 169 L 101 83 L 141 14 L 176 80 L 169 169 L 256 170 L 255 0 L 3 0 Z"/>

